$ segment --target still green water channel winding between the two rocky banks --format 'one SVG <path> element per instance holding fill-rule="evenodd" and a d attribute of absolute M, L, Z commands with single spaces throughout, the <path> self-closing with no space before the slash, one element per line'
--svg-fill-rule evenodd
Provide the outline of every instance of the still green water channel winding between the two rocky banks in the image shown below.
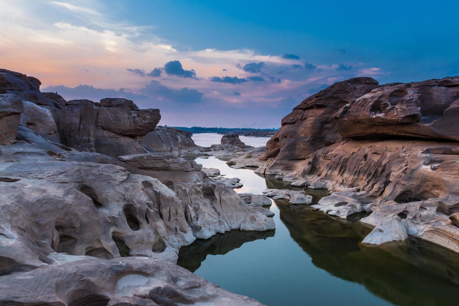
<path fill-rule="evenodd" d="M 245 184 L 238 192 L 285 188 L 271 176 L 197 159 Z M 237 173 L 237 174 L 236 174 Z M 287 186 L 288 187 L 288 186 Z M 311 193 L 316 202 L 323 192 Z M 419 240 L 365 247 L 369 229 L 307 206 L 275 202 L 276 230 L 233 231 L 182 248 L 178 264 L 266 305 L 457 305 L 459 255 Z"/>

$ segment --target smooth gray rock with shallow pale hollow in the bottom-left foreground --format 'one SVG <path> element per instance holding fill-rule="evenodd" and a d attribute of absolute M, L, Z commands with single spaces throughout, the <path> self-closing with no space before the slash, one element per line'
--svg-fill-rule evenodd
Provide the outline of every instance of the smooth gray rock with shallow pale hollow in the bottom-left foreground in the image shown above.
<path fill-rule="evenodd" d="M 1 277 L 0 292 L 2 305 L 263 305 L 173 263 L 145 257 L 52 263 Z"/>

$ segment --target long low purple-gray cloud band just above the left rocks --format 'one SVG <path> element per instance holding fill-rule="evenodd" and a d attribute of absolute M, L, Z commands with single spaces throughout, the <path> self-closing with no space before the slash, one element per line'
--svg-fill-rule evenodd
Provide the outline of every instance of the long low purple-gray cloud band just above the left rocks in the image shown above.
<path fill-rule="evenodd" d="M 129 100 L 145 99 L 146 96 L 142 94 L 135 94 L 127 91 L 124 88 L 120 89 L 101 89 L 95 88 L 92 85 L 78 85 L 76 87 L 67 87 L 64 85 L 48 86 L 41 89 L 42 92 L 57 92 L 66 100 L 73 99 L 88 99 L 99 101 L 103 98 L 125 98 Z"/>

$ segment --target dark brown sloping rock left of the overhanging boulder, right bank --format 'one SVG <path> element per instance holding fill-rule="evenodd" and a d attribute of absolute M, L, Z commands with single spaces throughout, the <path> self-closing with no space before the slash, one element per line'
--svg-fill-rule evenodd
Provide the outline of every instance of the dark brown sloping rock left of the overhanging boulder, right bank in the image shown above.
<path fill-rule="evenodd" d="M 343 141 L 333 114 L 344 105 L 378 88 L 373 78 L 351 78 L 338 82 L 303 100 L 282 119 L 282 127 L 266 144 L 260 160 L 274 158 L 266 174 L 294 171 L 291 160 L 302 160 L 314 150 Z"/>

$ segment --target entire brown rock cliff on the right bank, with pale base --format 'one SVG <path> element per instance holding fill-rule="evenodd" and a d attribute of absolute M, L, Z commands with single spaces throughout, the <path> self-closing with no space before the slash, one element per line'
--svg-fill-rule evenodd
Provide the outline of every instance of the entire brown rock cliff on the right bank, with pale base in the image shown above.
<path fill-rule="evenodd" d="M 329 189 L 313 207 L 330 215 L 371 212 L 364 243 L 409 234 L 459 252 L 458 103 L 459 77 L 335 83 L 282 120 L 257 172 Z"/>

